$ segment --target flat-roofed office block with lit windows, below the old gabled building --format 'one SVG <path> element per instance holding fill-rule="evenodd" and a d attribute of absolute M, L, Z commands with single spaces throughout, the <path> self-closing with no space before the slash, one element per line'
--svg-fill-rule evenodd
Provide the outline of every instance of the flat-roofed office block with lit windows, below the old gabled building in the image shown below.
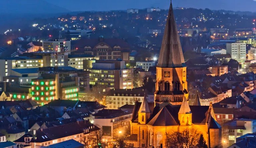
<path fill-rule="evenodd" d="M 126 69 L 121 60 L 84 60 L 83 68 L 90 72 L 91 85 L 132 89 L 133 69 Z"/>

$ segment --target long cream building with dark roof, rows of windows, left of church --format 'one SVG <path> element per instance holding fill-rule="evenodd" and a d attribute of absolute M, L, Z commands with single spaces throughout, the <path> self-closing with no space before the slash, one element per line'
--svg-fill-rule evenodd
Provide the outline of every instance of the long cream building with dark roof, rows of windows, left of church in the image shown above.
<path fill-rule="evenodd" d="M 108 100 L 107 106 L 109 109 L 118 109 L 119 107 L 129 104 L 134 105 L 135 101 L 142 102 L 143 98 L 146 95 L 148 102 L 154 102 L 154 99 L 151 99 L 150 96 L 147 97 L 147 90 L 145 89 L 111 89 L 107 96 L 104 96 L 104 99 Z"/>

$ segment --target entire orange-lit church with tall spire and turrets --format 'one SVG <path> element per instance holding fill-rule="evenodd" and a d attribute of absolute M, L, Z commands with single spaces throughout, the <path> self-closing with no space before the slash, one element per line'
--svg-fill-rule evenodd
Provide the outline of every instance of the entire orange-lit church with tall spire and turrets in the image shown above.
<path fill-rule="evenodd" d="M 201 106 L 199 98 L 191 106 L 188 103 L 186 71 L 171 3 L 157 65 L 155 102 L 136 101 L 126 145 L 167 147 L 172 132 L 192 128 L 203 134 L 209 148 L 220 145 L 221 126 L 212 104 Z"/>

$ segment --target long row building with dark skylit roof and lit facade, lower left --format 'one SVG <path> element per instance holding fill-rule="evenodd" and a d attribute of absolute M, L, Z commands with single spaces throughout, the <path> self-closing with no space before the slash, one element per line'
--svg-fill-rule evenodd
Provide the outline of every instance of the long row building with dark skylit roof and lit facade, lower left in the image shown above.
<path fill-rule="evenodd" d="M 54 126 L 46 129 L 36 130 L 35 133 L 27 133 L 19 139 L 13 141 L 20 145 L 48 146 L 70 139 L 80 141 L 81 137 L 90 136 L 90 133 L 99 130 L 99 128 L 89 121 L 77 121 L 69 124 Z"/>

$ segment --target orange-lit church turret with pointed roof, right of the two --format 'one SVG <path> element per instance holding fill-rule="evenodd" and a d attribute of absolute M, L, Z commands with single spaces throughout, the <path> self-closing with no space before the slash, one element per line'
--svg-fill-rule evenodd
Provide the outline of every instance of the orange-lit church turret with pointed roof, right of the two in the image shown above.
<path fill-rule="evenodd" d="M 192 125 L 192 112 L 186 98 L 183 99 L 178 117 L 180 125 Z"/>

